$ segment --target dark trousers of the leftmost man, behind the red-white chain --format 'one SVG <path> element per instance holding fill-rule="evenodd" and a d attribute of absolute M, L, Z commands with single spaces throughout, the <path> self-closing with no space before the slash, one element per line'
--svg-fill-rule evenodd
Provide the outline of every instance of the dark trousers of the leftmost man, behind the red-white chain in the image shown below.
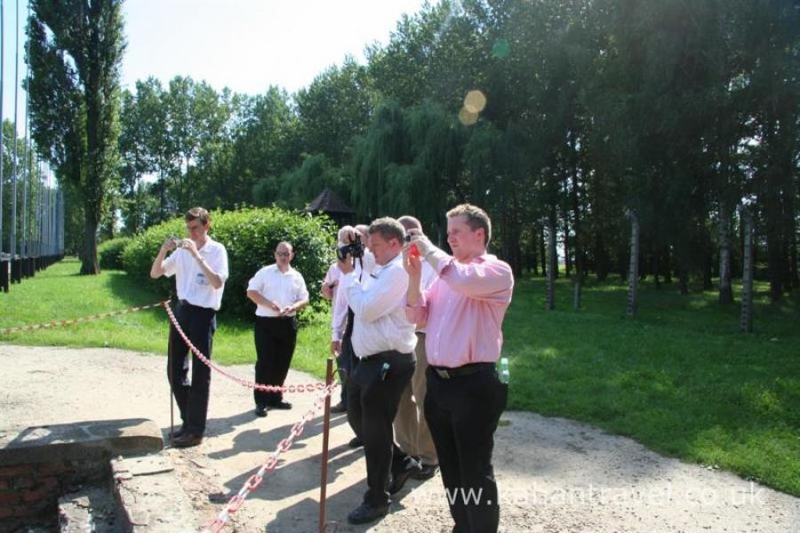
<path fill-rule="evenodd" d="M 214 330 L 217 329 L 216 312 L 208 307 L 181 303 L 175 308 L 175 318 L 192 344 L 211 359 Z M 189 349 L 172 324 L 168 350 L 167 378 L 172 378 L 172 395 L 178 404 L 184 430 L 189 434 L 202 435 L 208 415 L 211 369 L 192 354 L 192 378 L 189 381 Z"/>

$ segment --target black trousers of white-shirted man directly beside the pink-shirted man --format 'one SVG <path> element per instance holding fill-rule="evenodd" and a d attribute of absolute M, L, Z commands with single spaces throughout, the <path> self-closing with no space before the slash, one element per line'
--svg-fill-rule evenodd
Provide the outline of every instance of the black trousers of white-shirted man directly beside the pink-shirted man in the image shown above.
<path fill-rule="evenodd" d="M 386 372 L 382 371 L 384 363 L 389 365 Z M 415 366 L 413 353 L 381 352 L 359 361 L 348 381 L 348 422 L 364 441 L 368 487 L 364 502 L 376 507 L 390 502 L 392 422 Z"/>

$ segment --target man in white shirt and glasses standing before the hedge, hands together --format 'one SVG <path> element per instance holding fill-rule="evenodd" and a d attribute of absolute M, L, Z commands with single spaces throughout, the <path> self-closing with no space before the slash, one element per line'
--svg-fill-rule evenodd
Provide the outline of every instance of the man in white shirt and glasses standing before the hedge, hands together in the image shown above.
<path fill-rule="evenodd" d="M 308 305 L 306 282 L 292 259 L 292 244 L 278 243 L 275 264 L 261 268 L 247 284 L 247 298 L 257 306 L 255 379 L 261 385 L 284 386 L 297 344 L 297 312 Z M 268 408 L 292 409 L 282 393 L 253 390 L 253 398 L 258 417 L 266 417 Z"/>

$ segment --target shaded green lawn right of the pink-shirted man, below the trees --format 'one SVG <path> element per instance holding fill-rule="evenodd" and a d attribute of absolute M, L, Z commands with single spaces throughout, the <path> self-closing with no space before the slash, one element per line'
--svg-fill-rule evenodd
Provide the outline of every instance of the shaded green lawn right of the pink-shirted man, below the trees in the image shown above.
<path fill-rule="evenodd" d="M 756 286 L 754 334 L 716 292 L 592 284 L 580 311 L 559 280 L 518 282 L 504 325 L 510 408 L 586 421 L 650 449 L 714 465 L 800 496 L 800 300 L 771 305 Z M 736 290 L 739 290 L 737 287 Z"/>

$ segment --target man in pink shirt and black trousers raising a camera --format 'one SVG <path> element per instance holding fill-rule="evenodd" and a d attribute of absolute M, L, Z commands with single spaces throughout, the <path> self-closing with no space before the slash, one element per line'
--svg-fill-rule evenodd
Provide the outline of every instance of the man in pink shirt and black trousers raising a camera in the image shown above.
<path fill-rule="evenodd" d="M 404 248 L 406 314 L 418 326 L 427 323 L 425 418 L 455 521 L 453 531 L 497 531 L 500 505 L 492 449 L 508 386 L 500 382 L 494 363 L 500 357 L 514 276 L 507 263 L 486 253 L 492 222 L 474 205 L 447 212 L 452 256 L 425 235 L 409 233 L 412 240 Z M 422 261 L 438 274 L 425 291 Z"/>

